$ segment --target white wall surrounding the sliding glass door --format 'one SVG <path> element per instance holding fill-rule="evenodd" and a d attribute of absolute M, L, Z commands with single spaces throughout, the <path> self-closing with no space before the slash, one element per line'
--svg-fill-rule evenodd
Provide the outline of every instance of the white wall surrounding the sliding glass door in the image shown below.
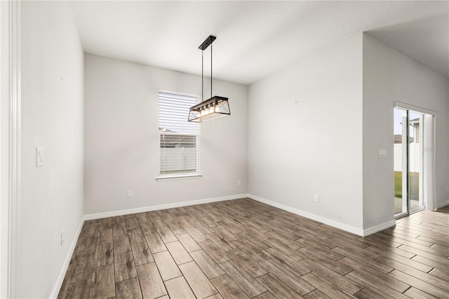
<path fill-rule="evenodd" d="M 363 34 L 363 227 L 394 219 L 393 102 L 438 111 L 436 146 L 448 147 L 449 79 Z M 380 159 L 379 150 L 387 150 Z M 436 203 L 448 201 L 448 152 L 436 152 Z"/>

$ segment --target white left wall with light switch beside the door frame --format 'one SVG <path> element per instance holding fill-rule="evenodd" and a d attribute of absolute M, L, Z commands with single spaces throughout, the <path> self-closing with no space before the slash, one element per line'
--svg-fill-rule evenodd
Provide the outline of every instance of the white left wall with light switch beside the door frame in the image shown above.
<path fill-rule="evenodd" d="M 83 50 L 69 2 L 22 1 L 21 12 L 17 297 L 48 298 L 83 217 Z"/>

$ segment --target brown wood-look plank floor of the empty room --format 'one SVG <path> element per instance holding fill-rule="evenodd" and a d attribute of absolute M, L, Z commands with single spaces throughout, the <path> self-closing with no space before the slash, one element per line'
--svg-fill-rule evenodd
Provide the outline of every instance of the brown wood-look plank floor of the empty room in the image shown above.
<path fill-rule="evenodd" d="M 369 237 L 251 199 L 86 221 L 58 298 L 449 298 L 449 206 Z"/>

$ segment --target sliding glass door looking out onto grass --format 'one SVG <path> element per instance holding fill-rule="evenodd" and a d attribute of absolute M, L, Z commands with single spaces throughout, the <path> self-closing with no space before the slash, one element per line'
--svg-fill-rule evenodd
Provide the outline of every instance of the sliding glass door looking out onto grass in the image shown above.
<path fill-rule="evenodd" d="M 394 108 L 394 215 L 424 208 L 424 114 Z"/>

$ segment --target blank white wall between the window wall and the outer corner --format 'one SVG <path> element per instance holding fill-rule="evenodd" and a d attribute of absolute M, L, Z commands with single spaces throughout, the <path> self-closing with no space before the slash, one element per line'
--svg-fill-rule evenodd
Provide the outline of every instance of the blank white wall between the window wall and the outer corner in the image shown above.
<path fill-rule="evenodd" d="M 248 109 L 248 192 L 361 234 L 362 35 L 252 84 Z"/>

